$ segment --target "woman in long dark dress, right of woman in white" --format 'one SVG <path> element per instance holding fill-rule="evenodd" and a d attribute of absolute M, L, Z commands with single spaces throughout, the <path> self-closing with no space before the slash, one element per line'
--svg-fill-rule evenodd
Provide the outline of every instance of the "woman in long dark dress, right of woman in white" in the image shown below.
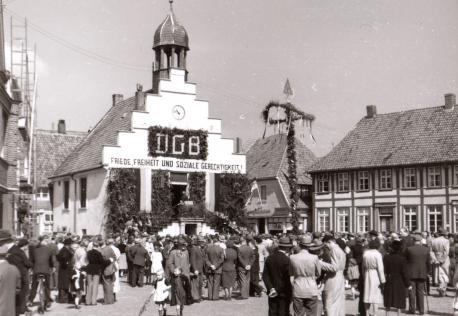
<path fill-rule="evenodd" d="M 406 308 L 407 288 L 409 287 L 409 278 L 406 271 L 407 261 L 401 251 L 402 242 L 393 240 L 390 253 L 383 259 L 386 277 L 383 292 L 385 309 L 389 311 L 394 307 L 397 309 L 398 315 L 401 309 Z"/>

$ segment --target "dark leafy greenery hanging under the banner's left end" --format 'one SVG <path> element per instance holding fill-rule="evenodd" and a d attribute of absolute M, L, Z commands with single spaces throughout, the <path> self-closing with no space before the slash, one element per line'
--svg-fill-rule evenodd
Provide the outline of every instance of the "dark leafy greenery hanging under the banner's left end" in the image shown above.
<path fill-rule="evenodd" d="M 113 168 L 109 174 L 106 206 L 109 213 L 106 232 L 120 233 L 139 211 L 140 170 Z"/>

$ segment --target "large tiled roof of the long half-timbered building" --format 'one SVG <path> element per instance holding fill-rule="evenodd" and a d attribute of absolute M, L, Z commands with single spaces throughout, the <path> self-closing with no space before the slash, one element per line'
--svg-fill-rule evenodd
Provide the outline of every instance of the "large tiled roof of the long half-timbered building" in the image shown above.
<path fill-rule="evenodd" d="M 311 170 L 458 161 L 458 108 L 443 106 L 363 118 Z"/>

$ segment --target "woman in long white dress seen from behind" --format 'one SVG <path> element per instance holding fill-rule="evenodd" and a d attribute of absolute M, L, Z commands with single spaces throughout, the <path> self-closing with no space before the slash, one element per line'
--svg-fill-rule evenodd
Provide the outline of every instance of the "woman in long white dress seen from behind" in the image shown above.
<path fill-rule="evenodd" d="M 363 254 L 364 305 L 366 315 L 377 315 L 378 305 L 383 304 L 382 288 L 385 284 L 382 254 L 378 239 L 369 242 Z"/>

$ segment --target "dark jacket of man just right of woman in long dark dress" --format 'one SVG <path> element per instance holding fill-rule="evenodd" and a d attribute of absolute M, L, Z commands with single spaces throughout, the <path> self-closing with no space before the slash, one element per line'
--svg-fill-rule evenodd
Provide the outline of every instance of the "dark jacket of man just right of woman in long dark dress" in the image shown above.
<path fill-rule="evenodd" d="M 424 279 L 428 277 L 430 255 L 427 247 L 413 245 L 406 249 L 407 271 L 410 279 Z"/>

